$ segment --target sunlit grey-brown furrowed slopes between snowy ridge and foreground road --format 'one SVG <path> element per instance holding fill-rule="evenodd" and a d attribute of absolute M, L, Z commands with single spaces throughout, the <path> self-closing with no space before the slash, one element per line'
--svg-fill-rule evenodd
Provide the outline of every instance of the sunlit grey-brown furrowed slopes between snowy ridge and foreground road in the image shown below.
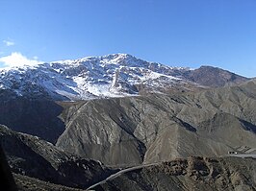
<path fill-rule="evenodd" d="M 70 103 L 57 146 L 108 165 L 256 146 L 256 84 Z M 66 119 L 66 120 L 65 120 Z"/>

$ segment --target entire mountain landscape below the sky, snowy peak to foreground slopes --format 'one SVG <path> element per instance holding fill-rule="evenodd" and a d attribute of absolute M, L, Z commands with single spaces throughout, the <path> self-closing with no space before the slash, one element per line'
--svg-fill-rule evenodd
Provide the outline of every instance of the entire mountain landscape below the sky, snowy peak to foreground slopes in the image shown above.
<path fill-rule="evenodd" d="M 255 79 L 212 66 L 115 54 L 0 70 L 20 190 L 256 189 L 255 160 L 228 155 L 256 154 L 255 108 Z"/>

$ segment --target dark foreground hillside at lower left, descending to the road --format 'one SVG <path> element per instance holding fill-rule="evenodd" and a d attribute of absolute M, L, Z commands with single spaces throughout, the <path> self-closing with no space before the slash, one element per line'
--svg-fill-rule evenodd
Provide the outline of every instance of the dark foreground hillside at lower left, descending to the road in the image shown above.
<path fill-rule="evenodd" d="M 71 187 L 87 188 L 111 175 L 100 162 L 70 155 L 37 136 L 0 126 L 0 144 L 14 173 Z"/>

